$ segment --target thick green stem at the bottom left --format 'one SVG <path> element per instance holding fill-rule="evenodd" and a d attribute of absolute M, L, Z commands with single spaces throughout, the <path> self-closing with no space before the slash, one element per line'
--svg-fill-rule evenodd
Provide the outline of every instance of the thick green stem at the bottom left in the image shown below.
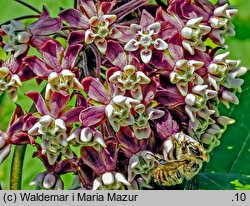
<path fill-rule="evenodd" d="M 16 145 L 10 174 L 10 189 L 20 190 L 22 184 L 23 160 L 27 145 Z"/>

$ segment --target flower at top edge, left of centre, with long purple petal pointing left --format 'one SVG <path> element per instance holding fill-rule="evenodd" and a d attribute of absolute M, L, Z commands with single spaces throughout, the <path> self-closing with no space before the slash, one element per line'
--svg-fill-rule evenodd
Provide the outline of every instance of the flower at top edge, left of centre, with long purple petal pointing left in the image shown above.
<path fill-rule="evenodd" d="M 79 10 L 68 9 L 62 11 L 60 17 L 71 26 L 84 31 L 84 42 L 95 43 L 101 53 L 107 50 L 107 39 L 118 39 L 122 33 L 114 26 L 117 19 L 110 14 L 114 7 L 112 2 L 97 2 L 93 0 L 80 0 Z"/>

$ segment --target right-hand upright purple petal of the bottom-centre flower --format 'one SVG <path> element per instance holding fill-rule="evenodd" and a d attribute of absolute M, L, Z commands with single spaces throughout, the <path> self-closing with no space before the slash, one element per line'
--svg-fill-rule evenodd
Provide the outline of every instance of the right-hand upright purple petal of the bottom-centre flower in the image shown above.
<path fill-rule="evenodd" d="M 106 142 L 106 148 L 101 151 L 102 162 L 105 165 L 106 171 L 114 171 L 118 155 L 117 143 L 114 141 Z"/>

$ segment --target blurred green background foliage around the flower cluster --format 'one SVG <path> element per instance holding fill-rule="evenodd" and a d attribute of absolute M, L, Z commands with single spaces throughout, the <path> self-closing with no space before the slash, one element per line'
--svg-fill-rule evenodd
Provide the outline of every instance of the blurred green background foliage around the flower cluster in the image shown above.
<path fill-rule="evenodd" d="M 216 0 L 211 0 L 216 2 Z M 72 7 L 73 0 L 26 0 L 37 9 L 46 5 L 52 16 L 56 16 L 60 8 Z M 237 7 L 239 12 L 233 18 L 236 36 L 227 38 L 228 50 L 231 59 L 241 59 L 242 66 L 250 68 L 250 1 L 231 0 L 230 3 Z M 34 14 L 30 9 L 21 6 L 14 0 L 0 0 L 0 23 L 22 15 Z M 0 50 L 0 58 L 6 56 Z M 228 127 L 222 136 L 221 144 L 211 154 L 210 162 L 197 176 L 197 189 L 250 189 L 250 72 L 245 76 L 242 93 L 238 94 L 240 105 L 231 105 L 230 110 L 221 107 L 221 113 L 236 120 L 234 125 Z M 42 88 L 42 87 L 40 87 Z M 31 101 L 24 96 L 30 90 L 39 90 L 34 80 L 24 83 L 20 89 L 18 104 L 27 111 Z M 15 105 L 7 95 L 0 96 L 0 129 L 6 130 L 9 118 Z M 12 147 L 13 152 L 14 147 Z M 27 147 L 22 189 L 35 189 L 29 183 L 44 167 L 37 159 L 32 158 L 35 149 Z M 12 154 L 11 154 L 12 155 Z M 11 168 L 11 155 L 0 165 L 0 183 L 3 189 L 9 188 L 9 175 Z M 71 175 L 64 175 L 65 188 L 69 189 L 72 182 Z"/>

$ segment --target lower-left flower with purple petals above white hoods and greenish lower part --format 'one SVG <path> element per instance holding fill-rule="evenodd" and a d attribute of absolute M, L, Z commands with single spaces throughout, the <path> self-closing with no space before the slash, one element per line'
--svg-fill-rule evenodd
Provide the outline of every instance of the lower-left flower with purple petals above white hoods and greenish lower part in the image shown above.
<path fill-rule="evenodd" d="M 70 96 L 65 91 L 56 91 L 48 101 L 44 101 L 38 92 L 26 94 L 34 101 L 40 118 L 29 129 L 28 134 L 42 138 L 42 153 L 46 154 L 50 164 L 54 164 L 60 154 L 73 158 L 73 153 L 67 142 L 67 127 L 79 121 L 79 113 L 83 109 L 69 109 L 67 104 Z"/>

